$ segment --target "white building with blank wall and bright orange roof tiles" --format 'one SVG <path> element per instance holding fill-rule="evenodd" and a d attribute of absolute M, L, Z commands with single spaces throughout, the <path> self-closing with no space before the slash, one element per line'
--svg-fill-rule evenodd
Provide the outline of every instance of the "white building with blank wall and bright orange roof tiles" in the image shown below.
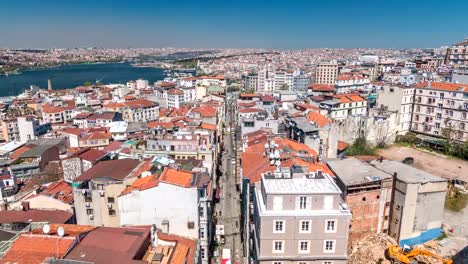
<path fill-rule="evenodd" d="M 207 264 L 213 230 L 209 182 L 207 174 L 167 167 L 159 177 L 137 179 L 118 197 L 120 224 L 156 225 L 165 233 L 196 239 L 197 263 Z"/>

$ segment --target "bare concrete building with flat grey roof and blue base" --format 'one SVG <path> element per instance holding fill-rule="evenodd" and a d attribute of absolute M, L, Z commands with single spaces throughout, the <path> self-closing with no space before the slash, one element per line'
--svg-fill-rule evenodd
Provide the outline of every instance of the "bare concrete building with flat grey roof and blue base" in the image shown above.
<path fill-rule="evenodd" d="M 389 175 L 396 174 L 389 235 L 400 245 L 410 246 L 439 237 L 447 179 L 398 161 L 372 161 L 370 164 Z"/>

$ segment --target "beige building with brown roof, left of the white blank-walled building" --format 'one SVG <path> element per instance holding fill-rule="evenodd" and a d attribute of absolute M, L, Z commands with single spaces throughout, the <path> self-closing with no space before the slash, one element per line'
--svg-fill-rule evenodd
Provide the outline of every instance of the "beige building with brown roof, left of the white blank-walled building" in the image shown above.
<path fill-rule="evenodd" d="M 143 172 L 147 162 L 132 159 L 101 161 L 73 182 L 77 223 L 93 226 L 120 226 L 117 197 Z"/>

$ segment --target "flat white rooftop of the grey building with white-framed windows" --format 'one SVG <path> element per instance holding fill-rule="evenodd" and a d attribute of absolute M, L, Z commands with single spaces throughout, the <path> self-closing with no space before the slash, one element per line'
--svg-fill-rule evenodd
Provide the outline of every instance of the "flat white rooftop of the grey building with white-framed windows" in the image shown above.
<path fill-rule="evenodd" d="M 320 179 L 290 178 L 266 179 L 263 185 L 267 194 L 341 194 L 341 190 L 328 176 Z"/>

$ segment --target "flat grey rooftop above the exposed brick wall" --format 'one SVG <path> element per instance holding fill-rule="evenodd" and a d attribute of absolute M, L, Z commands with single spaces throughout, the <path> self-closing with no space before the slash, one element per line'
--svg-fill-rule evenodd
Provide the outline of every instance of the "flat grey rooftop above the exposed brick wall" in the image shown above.
<path fill-rule="evenodd" d="M 327 165 L 347 186 L 383 180 L 391 178 L 393 175 L 393 173 L 389 174 L 379 170 L 367 162 L 362 162 L 356 158 L 329 160 L 327 161 Z"/>

